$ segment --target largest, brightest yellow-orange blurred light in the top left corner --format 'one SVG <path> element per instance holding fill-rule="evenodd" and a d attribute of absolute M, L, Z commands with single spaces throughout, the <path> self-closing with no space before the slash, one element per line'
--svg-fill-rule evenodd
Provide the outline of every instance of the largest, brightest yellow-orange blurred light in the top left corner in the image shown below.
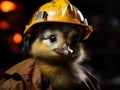
<path fill-rule="evenodd" d="M 3 12 L 9 12 L 16 9 L 16 4 L 11 1 L 2 1 L 0 9 Z"/>

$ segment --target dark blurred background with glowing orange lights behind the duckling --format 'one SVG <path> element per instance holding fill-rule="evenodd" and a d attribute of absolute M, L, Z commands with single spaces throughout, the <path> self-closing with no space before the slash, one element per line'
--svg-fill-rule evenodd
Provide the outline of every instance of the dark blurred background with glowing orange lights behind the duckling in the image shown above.
<path fill-rule="evenodd" d="M 0 0 L 0 74 L 23 60 L 22 34 L 35 10 L 51 0 Z M 120 90 L 120 0 L 70 0 L 94 32 L 86 44 L 88 69 L 101 90 Z"/>

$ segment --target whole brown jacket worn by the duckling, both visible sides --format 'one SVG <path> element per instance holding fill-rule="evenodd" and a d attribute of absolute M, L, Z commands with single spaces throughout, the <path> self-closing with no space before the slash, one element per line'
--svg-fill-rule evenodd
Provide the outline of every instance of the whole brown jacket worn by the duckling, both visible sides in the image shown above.
<path fill-rule="evenodd" d="M 90 77 L 93 82 L 95 81 L 94 86 L 97 87 L 96 79 L 91 75 Z M 41 74 L 36 60 L 29 58 L 14 65 L 2 74 L 0 90 L 53 90 L 49 80 L 43 79 L 44 76 Z"/>

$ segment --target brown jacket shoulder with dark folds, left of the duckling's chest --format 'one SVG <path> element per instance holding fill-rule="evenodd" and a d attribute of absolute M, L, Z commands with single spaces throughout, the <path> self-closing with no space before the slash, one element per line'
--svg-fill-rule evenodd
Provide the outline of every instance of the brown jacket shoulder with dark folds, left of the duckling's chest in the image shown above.
<path fill-rule="evenodd" d="M 31 79 L 33 79 L 35 83 L 38 82 L 38 79 L 40 80 L 39 76 L 32 77 L 35 76 L 35 73 L 40 76 L 40 72 L 36 67 L 36 61 L 32 58 L 23 60 L 22 62 L 19 62 L 18 64 L 8 69 L 0 77 L 0 90 L 28 90 L 29 88 L 32 89 L 33 82 Z"/>

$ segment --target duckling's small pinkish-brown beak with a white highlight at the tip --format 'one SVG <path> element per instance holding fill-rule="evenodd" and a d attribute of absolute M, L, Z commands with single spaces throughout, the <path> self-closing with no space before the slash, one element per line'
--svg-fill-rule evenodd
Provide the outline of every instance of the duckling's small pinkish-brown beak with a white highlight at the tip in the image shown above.
<path fill-rule="evenodd" d="M 61 48 L 55 49 L 55 52 L 60 55 L 71 56 L 73 50 L 65 43 Z"/>

